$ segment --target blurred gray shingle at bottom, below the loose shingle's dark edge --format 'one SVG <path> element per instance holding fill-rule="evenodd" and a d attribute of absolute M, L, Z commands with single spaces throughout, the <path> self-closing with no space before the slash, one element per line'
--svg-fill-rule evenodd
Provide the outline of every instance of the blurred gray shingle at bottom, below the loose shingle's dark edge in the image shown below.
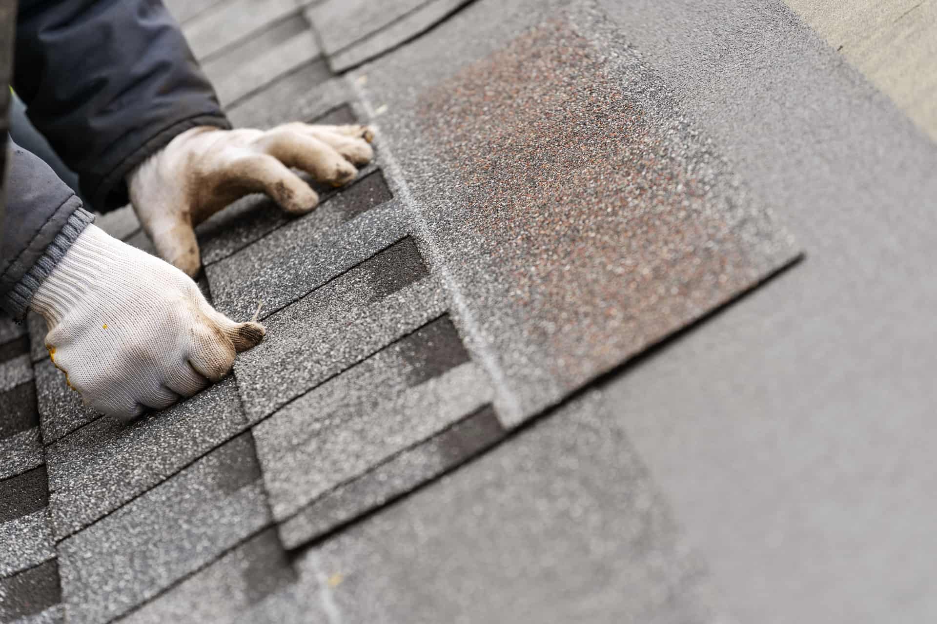
<path fill-rule="evenodd" d="M 705 572 L 596 393 L 296 565 L 343 575 L 333 621 L 717 621 Z"/>

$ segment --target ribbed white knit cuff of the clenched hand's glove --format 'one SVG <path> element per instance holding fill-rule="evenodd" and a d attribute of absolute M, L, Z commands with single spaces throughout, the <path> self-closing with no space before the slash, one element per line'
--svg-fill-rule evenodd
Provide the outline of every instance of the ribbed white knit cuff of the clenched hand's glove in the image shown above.
<path fill-rule="evenodd" d="M 120 270 L 126 264 L 126 247 L 97 225 L 87 225 L 39 284 L 30 307 L 54 327 L 82 300 L 93 296 L 103 269 Z"/>

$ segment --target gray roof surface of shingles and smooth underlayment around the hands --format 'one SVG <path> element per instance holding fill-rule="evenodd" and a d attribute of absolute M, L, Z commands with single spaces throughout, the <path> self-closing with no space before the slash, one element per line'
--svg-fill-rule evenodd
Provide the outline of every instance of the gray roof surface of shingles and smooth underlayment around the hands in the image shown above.
<path fill-rule="evenodd" d="M 937 152 L 781 3 L 168 4 L 234 123 L 377 157 L 201 225 L 267 336 L 169 410 L 88 411 L 0 325 L 0 620 L 929 612 L 856 500 L 929 491 Z"/>

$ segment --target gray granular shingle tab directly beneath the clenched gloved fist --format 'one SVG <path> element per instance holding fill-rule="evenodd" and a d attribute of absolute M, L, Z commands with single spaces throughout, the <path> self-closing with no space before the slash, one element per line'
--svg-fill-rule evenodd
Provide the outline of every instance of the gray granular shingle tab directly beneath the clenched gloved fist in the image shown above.
<path fill-rule="evenodd" d="M 112 418 L 46 449 L 56 539 L 74 533 L 240 433 L 233 377 L 127 426 Z"/>

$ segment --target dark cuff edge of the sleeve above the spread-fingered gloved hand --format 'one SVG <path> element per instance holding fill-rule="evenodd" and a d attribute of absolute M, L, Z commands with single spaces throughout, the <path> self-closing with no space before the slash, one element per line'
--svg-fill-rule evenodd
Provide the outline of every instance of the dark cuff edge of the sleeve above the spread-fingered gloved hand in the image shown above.
<path fill-rule="evenodd" d="M 138 165 L 169 145 L 176 136 L 198 125 L 211 125 L 230 130 L 231 122 L 222 113 L 206 113 L 171 124 L 160 130 L 153 138 L 143 143 L 127 156 L 117 167 L 103 176 L 87 176 L 80 181 L 82 193 L 88 197 L 91 207 L 98 212 L 108 212 L 126 206 L 130 196 L 126 187 L 126 176 Z"/>

